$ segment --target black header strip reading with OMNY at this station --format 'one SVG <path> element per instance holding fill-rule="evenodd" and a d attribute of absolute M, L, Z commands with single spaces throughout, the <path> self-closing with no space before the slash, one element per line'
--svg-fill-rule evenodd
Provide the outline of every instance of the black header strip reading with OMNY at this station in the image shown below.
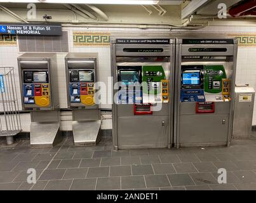
<path fill-rule="evenodd" d="M 182 44 L 234 44 L 234 39 L 182 39 Z"/>

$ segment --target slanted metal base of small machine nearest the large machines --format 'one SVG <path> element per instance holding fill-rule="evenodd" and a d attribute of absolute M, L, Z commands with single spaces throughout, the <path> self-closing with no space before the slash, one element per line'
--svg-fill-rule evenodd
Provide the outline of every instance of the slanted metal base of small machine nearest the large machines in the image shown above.
<path fill-rule="evenodd" d="M 100 120 L 73 121 L 72 130 L 75 146 L 96 145 L 101 139 Z"/>

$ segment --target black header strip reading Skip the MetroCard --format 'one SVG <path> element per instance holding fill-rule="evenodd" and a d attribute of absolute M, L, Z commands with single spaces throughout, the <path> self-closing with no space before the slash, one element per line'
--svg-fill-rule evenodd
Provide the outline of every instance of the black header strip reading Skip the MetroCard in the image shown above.
<path fill-rule="evenodd" d="M 117 44 L 170 44 L 170 39 L 116 39 Z"/>

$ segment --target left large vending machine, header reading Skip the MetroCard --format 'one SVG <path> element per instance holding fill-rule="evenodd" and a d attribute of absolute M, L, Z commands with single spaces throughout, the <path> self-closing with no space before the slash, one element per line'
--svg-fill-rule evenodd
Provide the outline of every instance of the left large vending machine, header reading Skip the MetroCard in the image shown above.
<path fill-rule="evenodd" d="M 173 39 L 112 39 L 115 150 L 172 146 Z"/>

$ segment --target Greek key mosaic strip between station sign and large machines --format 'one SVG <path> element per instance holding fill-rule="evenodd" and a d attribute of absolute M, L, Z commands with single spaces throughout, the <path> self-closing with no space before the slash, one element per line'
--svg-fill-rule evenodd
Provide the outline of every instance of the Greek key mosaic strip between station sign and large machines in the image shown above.
<path fill-rule="evenodd" d="M 109 46 L 110 32 L 73 32 L 74 46 Z"/>

